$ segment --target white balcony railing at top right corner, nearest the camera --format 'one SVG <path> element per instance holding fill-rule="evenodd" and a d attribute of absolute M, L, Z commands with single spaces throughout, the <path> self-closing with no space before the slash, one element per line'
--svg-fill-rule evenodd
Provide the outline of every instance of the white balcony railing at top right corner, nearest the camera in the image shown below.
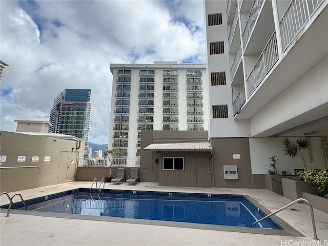
<path fill-rule="evenodd" d="M 293 0 L 290 3 L 279 22 L 283 51 L 322 2 L 323 0 Z"/>

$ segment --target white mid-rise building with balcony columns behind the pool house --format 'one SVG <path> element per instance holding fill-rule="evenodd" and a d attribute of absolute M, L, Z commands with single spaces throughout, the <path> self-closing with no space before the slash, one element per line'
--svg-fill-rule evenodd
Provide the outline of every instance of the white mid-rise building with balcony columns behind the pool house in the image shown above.
<path fill-rule="evenodd" d="M 208 130 L 208 83 L 203 63 L 111 64 L 109 149 L 140 155 L 142 130 Z"/>

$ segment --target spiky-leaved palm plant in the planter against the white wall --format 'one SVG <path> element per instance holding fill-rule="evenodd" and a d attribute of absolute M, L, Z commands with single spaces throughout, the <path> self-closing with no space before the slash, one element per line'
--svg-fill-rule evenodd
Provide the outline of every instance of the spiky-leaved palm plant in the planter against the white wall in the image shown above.
<path fill-rule="evenodd" d="M 282 140 L 282 144 L 284 147 L 284 155 L 292 158 L 299 156 L 303 162 L 304 170 L 306 171 L 308 168 L 306 167 L 303 151 L 309 149 L 309 140 L 306 138 L 300 138 L 296 140 L 296 142 L 292 142 L 288 137 L 285 137 Z"/>

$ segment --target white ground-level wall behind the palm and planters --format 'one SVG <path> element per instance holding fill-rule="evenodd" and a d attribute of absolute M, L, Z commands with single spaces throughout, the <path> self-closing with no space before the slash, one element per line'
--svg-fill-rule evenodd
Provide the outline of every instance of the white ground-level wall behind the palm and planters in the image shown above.
<path fill-rule="evenodd" d="M 290 137 L 292 141 L 299 139 L 299 137 Z M 281 141 L 283 137 L 254 137 L 250 138 L 250 152 L 252 163 L 252 174 L 268 174 L 270 169 L 271 156 L 276 155 L 277 172 L 281 174 L 281 171 L 287 171 L 290 169 L 294 174 L 294 169 L 304 169 L 303 162 L 300 157 L 291 158 L 285 156 L 283 152 L 283 146 Z M 306 166 L 308 169 L 324 169 L 326 168 L 326 162 L 324 157 L 324 151 L 322 149 L 321 137 L 311 137 L 311 154 L 312 160 L 310 161 L 310 155 L 308 151 L 304 152 L 306 160 Z"/>

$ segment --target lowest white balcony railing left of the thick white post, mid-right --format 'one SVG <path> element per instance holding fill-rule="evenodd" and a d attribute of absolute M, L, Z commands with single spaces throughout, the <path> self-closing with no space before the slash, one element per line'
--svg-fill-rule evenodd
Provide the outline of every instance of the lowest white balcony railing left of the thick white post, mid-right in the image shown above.
<path fill-rule="evenodd" d="M 247 98 L 249 98 L 258 85 L 261 83 L 265 75 L 278 60 L 278 46 L 276 32 L 274 32 L 264 47 L 260 57 L 258 58 L 250 76 L 247 78 Z"/>

